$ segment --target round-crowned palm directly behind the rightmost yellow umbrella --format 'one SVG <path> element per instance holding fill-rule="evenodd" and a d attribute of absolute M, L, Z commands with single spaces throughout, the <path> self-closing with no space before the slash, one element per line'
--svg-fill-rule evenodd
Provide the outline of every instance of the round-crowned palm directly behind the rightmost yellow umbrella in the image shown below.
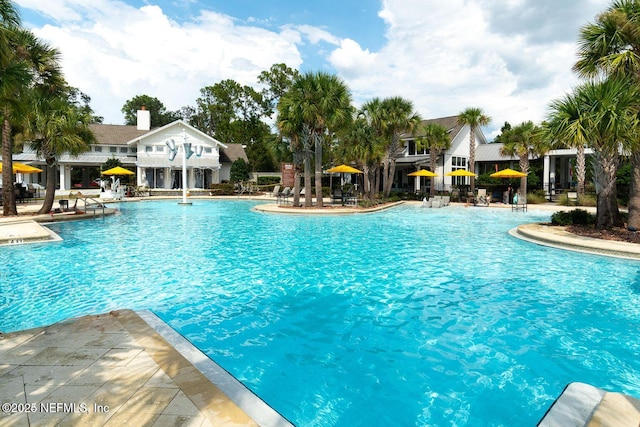
<path fill-rule="evenodd" d="M 529 157 L 539 157 L 549 151 L 543 138 L 542 129 L 527 121 L 505 131 L 501 137 L 504 145 L 500 149 L 502 156 L 517 156 L 520 170 L 529 173 Z M 527 194 L 527 177 L 520 178 L 520 194 Z"/>

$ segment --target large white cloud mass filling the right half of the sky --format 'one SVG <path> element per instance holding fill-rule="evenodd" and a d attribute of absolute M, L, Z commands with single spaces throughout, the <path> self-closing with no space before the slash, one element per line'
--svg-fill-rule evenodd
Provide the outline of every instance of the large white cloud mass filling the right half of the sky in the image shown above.
<path fill-rule="evenodd" d="M 592 1 L 586 8 L 575 1 L 554 11 L 550 1 L 542 3 L 511 1 L 512 16 L 528 11 L 537 20 L 524 17 L 507 29 L 496 28 L 496 17 L 505 13 L 502 1 L 385 0 L 379 16 L 388 24 L 387 44 L 367 56 L 366 68 L 355 69 L 346 61 L 333 64 L 361 102 L 400 95 L 425 118 L 477 106 L 493 118 L 490 134 L 504 121 L 541 121 L 549 101 L 577 81 L 571 66 L 579 27 L 607 6 Z M 553 25 L 541 24 L 545 14 Z M 564 27 L 557 39 L 548 28 L 540 29 L 560 23 Z"/>

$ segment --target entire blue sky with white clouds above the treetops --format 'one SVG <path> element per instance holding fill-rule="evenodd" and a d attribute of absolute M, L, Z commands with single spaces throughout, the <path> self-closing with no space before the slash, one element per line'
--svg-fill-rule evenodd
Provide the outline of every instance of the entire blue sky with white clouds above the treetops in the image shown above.
<path fill-rule="evenodd" d="M 57 47 L 69 83 L 105 123 L 130 98 L 194 105 L 224 79 L 259 88 L 284 62 L 338 74 L 356 106 L 402 96 L 424 118 L 480 107 L 493 122 L 544 119 L 577 84 L 579 28 L 606 0 L 17 0 Z"/>

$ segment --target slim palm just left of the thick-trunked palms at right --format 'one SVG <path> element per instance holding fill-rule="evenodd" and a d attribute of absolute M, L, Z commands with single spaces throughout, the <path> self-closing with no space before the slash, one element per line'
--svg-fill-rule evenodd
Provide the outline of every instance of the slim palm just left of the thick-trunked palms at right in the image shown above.
<path fill-rule="evenodd" d="M 576 153 L 576 174 L 578 177 L 577 193 L 584 195 L 585 176 L 587 174 L 584 147 L 587 145 L 585 129 L 586 117 L 578 97 L 565 95 L 551 103 L 548 120 L 543 124 L 544 137 L 547 143 L 555 147 L 573 147 Z"/>

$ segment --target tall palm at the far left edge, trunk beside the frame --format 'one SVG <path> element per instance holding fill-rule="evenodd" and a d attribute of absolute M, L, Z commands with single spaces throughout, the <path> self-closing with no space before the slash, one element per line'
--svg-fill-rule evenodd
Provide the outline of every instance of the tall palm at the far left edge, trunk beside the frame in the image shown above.
<path fill-rule="evenodd" d="M 4 5 L 0 5 L 4 6 Z M 29 91 L 39 88 L 44 96 L 59 90 L 64 79 L 58 64 L 58 51 L 38 40 L 30 31 L 1 27 L 9 49 L 0 49 L 0 115 L 2 117 L 2 196 L 3 214 L 16 215 L 13 191 L 13 125 L 29 111 Z"/>

